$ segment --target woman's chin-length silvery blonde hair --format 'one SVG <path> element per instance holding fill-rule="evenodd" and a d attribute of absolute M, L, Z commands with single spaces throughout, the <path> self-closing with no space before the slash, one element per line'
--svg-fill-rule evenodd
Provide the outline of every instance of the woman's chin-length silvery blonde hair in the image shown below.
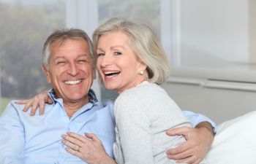
<path fill-rule="evenodd" d="M 94 51 L 97 50 L 100 36 L 116 31 L 122 31 L 129 36 L 135 55 L 147 66 L 148 82 L 162 85 L 170 75 L 170 64 L 157 36 L 148 26 L 120 17 L 110 18 L 94 31 Z"/>

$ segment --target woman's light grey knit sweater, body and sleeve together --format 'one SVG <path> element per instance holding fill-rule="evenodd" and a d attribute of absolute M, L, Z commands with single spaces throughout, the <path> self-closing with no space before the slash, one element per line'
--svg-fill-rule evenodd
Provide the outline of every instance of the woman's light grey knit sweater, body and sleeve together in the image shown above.
<path fill-rule="evenodd" d="M 165 151 L 185 141 L 183 136 L 167 136 L 165 130 L 191 126 L 165 90 L 143 82 L 121 93 L 115 102 L 118 164 L 175 163 Z"/>

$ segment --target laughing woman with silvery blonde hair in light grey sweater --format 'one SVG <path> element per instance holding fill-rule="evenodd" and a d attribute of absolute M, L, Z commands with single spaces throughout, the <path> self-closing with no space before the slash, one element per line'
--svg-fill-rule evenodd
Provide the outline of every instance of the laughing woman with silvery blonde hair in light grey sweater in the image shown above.
<path fill-rule="evenodd" d="M 170 66 L 154 33 L 143 24 L 112 18 L 94 31 L 93 42 L 102 82 L 120 93 L 115 101 L 116 162 L 175 163 L 165 151 L 185 138 L 168 137 L 165 130 L 190 124 L 159 87 Z"/>

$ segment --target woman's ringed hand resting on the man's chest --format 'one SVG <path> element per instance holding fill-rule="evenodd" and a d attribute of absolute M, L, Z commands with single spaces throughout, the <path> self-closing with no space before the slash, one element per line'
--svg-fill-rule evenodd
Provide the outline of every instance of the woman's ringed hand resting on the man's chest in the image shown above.
<path fill-rule="evenodd" d="M 80 157 L 86 163 L 115 163 L 113 158 L 109 157 L 105 152 L 102 141 L 94 134 L 85 133 L 85 136 L 80 136 L 76 133 L 68 132 L 63 135 L 62 143 L 67 146 L 66 150 L 72 155 Z"/>

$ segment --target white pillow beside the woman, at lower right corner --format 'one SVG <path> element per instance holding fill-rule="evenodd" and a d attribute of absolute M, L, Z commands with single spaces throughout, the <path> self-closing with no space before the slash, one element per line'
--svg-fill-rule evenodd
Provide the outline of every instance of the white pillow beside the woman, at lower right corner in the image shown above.
<path fill-rule="evenodd" d="M 210 164 L 256 164 L 256 111 L 218 125 L 206 160 Z"/>

